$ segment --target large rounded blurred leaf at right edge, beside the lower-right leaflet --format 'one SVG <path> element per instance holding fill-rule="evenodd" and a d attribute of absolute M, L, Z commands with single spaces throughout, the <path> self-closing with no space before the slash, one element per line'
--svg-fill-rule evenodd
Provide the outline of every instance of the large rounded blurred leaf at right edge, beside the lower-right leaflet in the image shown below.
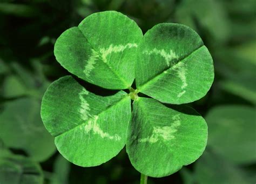
<path fill-rule="evenodd" d="M 206 116 L 208 145 L 234 163 L 256 161 L 255 109 L 243 105 L 213 108 Z"/>

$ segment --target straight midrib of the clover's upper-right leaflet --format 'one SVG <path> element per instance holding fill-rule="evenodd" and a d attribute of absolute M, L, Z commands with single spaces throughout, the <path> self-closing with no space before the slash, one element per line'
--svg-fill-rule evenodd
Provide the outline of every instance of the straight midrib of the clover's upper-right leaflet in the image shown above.
<path fill-rule="evenodd" d="M 162 74 L 164 74 L 165 71 L 172 69 L 173 67 L 175 67 L 178 63 L 182 62 L 184 59 L 186 59 L 187 57 L 189 57 L 191 54 L 193 54 L 194 52 L 197 52 L 201 47 L 203 47 L 204 45 L 200 45 L 197 49 L 193 50 L 191 53 L 187 54 L 185 57 L 180 58 L 176 64 L 168 67 L 167 69 L 161 71 L 159 74 L 157 74 L 156 76 L 152 77 L 151 79 L 149 79 L 148 81 L 146 81 L 144 84 L 140 85 L 140 87 L 137 88 L 138 92 L 144 90 L 147 86 L 150 85 L 150 83 L 153 83 L 154 81 L 157 81 L 159 79 L 159 77 L 161 77 Z"/>

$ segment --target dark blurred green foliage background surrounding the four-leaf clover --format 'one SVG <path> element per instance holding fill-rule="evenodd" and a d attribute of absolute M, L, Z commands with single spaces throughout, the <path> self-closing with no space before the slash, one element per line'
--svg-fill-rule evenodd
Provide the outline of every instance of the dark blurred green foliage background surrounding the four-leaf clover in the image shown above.
<path fill-rule="evenodd" d="M 69 163 L 40 118 L 44 91 L 69 74 L 53 56 L 56 38 L 105 10 L 124 13 L 144 33 L 163 22 L 188 25 L 214 60 L 211 90 L 188 104 L 207 121 L 205 153 L 148 183 L 255 183 L 255 0 L 0 0 L 0 183 L 139 183 L 125 149 L 98 167 Z"/>

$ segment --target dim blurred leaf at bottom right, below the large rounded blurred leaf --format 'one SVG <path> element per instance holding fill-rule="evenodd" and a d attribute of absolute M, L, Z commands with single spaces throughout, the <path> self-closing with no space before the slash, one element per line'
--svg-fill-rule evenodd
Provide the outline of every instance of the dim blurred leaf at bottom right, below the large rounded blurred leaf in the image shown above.
<path fill-rule="evenodd" d="M 253 183 L 247 180 L 242 169 L 207 151 L 197 161 L 194 175 L 199 184 Z"/>

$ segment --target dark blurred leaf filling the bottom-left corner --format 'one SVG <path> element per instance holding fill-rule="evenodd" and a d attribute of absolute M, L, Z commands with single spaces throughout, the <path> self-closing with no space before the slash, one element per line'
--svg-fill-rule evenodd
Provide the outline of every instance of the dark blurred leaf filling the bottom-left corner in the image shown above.
<path fill-rule="evenodd" d="M 43 173 L 38 163 L 23 156 L 0 153 L 0 183 L 42 184 Z"/>

